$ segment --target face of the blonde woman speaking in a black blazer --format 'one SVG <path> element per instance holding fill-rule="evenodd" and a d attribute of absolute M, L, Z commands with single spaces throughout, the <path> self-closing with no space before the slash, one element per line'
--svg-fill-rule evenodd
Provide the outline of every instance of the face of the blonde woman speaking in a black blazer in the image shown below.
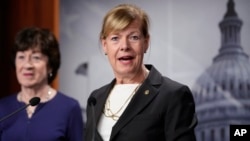
<path fill-rule="evenodd" d="M 149 38 L 145 38 L 140 29 L 140 22 L 135 20 L 124 30 L 112 32 L 102 40 L 103 50 L 118 77 L 134 77 L 142 69 Z"/>

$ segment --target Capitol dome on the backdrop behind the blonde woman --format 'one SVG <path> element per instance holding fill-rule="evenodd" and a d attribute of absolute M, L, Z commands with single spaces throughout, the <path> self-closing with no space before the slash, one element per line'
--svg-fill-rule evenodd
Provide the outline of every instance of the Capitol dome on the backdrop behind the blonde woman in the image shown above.
<path fill-rule="evenodd" d="M 229 141 L 230 124 L 250 124 L 250 62 L 240 45 L 242 21 L 229 0 L 220 22 L 221 47 L 213 64 L 197 79 L 197 141 Z"/>

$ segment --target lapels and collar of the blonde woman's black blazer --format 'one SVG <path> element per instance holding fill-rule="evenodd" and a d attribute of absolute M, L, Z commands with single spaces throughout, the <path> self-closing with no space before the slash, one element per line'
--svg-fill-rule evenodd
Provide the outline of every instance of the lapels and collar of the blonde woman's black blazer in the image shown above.
<path fill-rule="evenodd" d="M 127 106 L 117 123 L 114 125 L 110 140 L 112 140 L 112 138 L 114 138 L 117 133 L 124 126 L 126 126 L 126 124 L 129 123 L 140 111 L 142 111 L 144 107 L 147 106 L 158 94 L 158 88 L 162 83 L 162 75 L 154 68 L 154 66 L 145 66 L 150 71 L 149 75 L 137 90 L 134 97 L 131 99 L 129 105 Z M 97 90 L 97 93 L 94 96 L 98 100 L 95 106 L 96 123 L 98 123 L 103 113 L 106 99 L 114 85 L 115 79 L 113 79 L 112 82 L 108 85 L 103 86 L 102 88 Z"/>

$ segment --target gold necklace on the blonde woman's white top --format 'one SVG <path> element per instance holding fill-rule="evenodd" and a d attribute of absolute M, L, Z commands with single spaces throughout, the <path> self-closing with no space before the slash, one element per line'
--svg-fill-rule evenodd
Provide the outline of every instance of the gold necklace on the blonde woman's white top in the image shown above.
<path fill-rule="evenodd" d="M 134 94 L 137 92 L 138 88 L 141 86 L 141 84 L 139 84 L 138 86 L 136 86 L 136 88 L 133 90 L 133 92 L 129 95 L 129 97 L 125 100 L 125 102 L 122 104 L 122 106 L 116 111 L 112 111 L 111 106 L 110 106 L 110 95 L 107 99 L 107 102 L 105 103 L 104 106 L 104 111 L 103 114 L 105 117 L 111 118 L 114 121 L 117 121 L 120 118 L 120 112 L 121 110 L 124 108 L 124 106 L 128 103 L 128 101 L 134 96 Z"/>

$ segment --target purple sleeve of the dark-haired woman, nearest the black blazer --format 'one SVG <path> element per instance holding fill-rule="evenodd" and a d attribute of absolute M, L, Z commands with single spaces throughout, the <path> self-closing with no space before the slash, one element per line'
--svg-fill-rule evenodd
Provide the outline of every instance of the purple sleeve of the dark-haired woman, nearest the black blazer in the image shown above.
<path fill-rule="evenodd" d="M 83 141 L 84 123 L 81 108 L 78 102 L 73 106 L 67 130 L 68 141 Z"/>

